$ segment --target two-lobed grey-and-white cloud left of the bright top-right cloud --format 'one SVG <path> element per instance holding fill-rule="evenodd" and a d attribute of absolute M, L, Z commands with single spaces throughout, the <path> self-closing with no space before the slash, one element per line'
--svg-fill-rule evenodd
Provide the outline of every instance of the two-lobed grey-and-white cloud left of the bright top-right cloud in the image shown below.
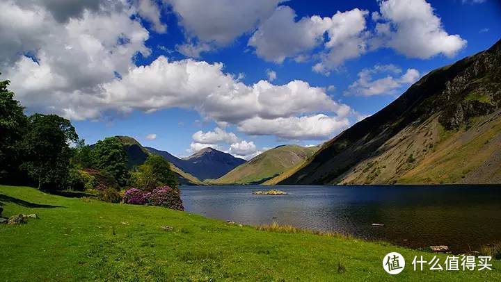
<path fill-rule="evenodd" d="M 303 60 L 308 53 L 324 44 L 321 62 L 313 68 L 326 73 L 345 60 L 365 52 L 365 16 L 367 11 L 358 8 L 337 12 L 332 17 L 303 17 L 296 22 L 296 13 L 288 6 L 280 6 L 264 21 L 248 41 L 255 47 L 257 56 L 264 60 L 282 63 L 286 58 Z M 324 40 L 327 33 L 328 40 Z"/>

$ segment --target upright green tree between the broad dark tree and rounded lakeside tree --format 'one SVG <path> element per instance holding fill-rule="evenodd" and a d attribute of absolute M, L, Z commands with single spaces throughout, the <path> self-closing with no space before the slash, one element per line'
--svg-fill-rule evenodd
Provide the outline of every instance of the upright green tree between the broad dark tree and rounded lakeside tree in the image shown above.
<path fill-rule="evenodd" d="M 127 153 L 118 138 L 111 137 L 97 141 L 92 151 L 93 167 L 109 172 L 119 185 L 127 184 L 129 169 L 127 169 Z"/>

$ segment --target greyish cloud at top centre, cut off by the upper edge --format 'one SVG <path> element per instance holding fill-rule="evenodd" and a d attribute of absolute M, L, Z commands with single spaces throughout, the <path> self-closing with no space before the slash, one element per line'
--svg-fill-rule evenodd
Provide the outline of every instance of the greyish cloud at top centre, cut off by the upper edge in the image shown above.
<path fill-rule="evenodd" d="M 188 37 L 225 46 L 253 31 L 282 0 L 164 0 L 177 13 Z"/>

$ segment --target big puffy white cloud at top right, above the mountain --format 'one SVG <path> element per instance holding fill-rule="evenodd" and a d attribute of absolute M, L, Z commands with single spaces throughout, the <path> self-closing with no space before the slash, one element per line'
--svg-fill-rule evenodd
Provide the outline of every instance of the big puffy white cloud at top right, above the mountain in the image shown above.
<path fill-rule="evenodd" d="M 427 59 L 440 53 L 453 57 L 466 46 L 466 40 L 445 31 L 424 0 L 388 0 L 379 6 L 383 23 L 376 28 L 373 48 L 390 47 L 410 58 Z"/>

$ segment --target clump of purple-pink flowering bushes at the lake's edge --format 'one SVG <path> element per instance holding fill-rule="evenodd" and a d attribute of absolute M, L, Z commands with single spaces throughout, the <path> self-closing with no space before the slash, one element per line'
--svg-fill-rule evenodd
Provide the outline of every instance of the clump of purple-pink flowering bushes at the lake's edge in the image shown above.
<path fill-rule="evenodd" d="M 173 210 L 184 210 L 180 191 L 169 186 L 154 188 L 152 192 L 145 192 L 136 188 L 125 191 L 123 201 L 126 204 L 164 206 Z"/>

